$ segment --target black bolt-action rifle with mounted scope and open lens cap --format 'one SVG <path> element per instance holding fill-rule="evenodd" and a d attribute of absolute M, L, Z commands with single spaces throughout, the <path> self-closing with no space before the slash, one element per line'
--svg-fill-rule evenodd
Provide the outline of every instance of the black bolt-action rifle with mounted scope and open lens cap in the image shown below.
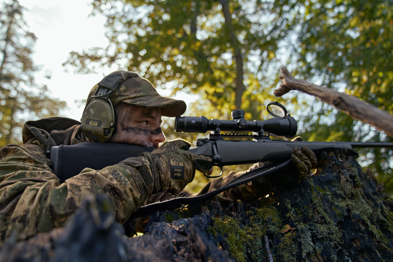
<path fill-rule="evenodd" d="M 361 143 L 361 142 L 303 142 L 272 140 L 269 136 L 293 138 L 297 132 L 295 118 L 278 102 L 270 102 L 267 111 L 274 116 L 267 120 L 248 121 L 244 119 L 243 110 L 232 112 L 233 120 L 207 119 L 204 116 L 177 116 L 176 132 L 211 131 L 208 138 L 198 139 L 197 146 L 189 151 L 210 157 L 215 166 L 250 164 L 263 161 L 284 162 L 288 160 L 295 147 L 309 147 L 316 155 L 323 151 L 333 151 L 357 157 L 353 148 L 393 147 L 393 143 Z M 222 131 L 232 133 L 224 134 Z M 234 133 L 236 132 L 236 133 Z M 238 134 L 252 132 L 252 134 Z M 247 140 L 244 140 L 247 139 Z M 51 150 L 52 170 L 64 181 L 78 175 L 84 168 L 100 170 L 115 165 L 128 157 L 137 157 L 145 151 L 153 151 L 153 147 L 132 146 L 110 143 L 79 143 L 73 146 L 54 146 Z M 206 175 L 206 174 L 205 174 Z M 209 178 L 220 175 L 206 175 Z"/>

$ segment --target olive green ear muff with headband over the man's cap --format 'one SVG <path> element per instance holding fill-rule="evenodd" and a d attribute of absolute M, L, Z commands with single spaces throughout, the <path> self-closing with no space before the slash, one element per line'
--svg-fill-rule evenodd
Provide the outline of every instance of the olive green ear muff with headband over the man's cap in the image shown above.
<path fill-rule="evenodd" d="M 87 100 L 81 118 L 82 130 L 90 141 L 104 143 L 112 137 L 116 119 L 109 95 L 121 82 L 132 77 L 139 76 L 134 72 L 115 71 L 97 84 L 98 88 Z"/>

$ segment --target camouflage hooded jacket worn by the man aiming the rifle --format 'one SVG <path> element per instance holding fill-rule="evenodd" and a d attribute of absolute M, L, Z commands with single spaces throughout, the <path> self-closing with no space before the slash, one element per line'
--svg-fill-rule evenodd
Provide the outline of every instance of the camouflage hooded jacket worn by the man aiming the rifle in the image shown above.
<path fill-rule="evenodd" d="M 88 142 L 80 124 L 63 117 L 28 121 L 23 128 L 23 145 L 10 144 L 1 148 L 0 246 L 13 231 L 17 240 L 21 240 L 62 227 L 89 194 L 109 195 L 119 223 L 123 223 L 140 205 L 175 197 L 166 193 L 152 194 L 153 185 L 145 183 L 137 169 L 125 164 L 99 171 L 86 168 L 60 184 L 46 152 L 52 146 Z M 200 194 L 221 187 L 234 176 L 236 174 L 212 180 Z M 253 191 L 248 187 L 235 188 L 220 198 L 226 202 L 246 200 L 250 194 L 245 190 Z M 185 191 L 180 193 L 182 197 L 189 195 Z M 136 219 L 136 228 L 144 220 Z"/>

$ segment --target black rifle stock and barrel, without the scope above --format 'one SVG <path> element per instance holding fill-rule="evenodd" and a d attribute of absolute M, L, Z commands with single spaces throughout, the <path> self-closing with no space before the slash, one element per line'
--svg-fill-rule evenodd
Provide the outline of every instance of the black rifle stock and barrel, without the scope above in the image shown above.
<path fill-rule="evenodd" d="M 206 140 L 201 146 L 189 151 L 217 160 L 213 146 L 221 161 L 215 165 L 251 164 L 261 161 L 285 161 L 290 158 L 295 146 L 308 146 L 316 154 L 333 151 L 336 154 L 357 156 L 352 147 L 393 147 L 393 143 L 352 143 L 352 142 L 299 142 L 264 139 L 263 142 Z M 153 147 L 111 143 L 79 143 L 73 146 L 54 146 L 51 149 L 52 170 L 61 182 L 78 175 L 84 168 L 101 170 L 118 164 L 128 157 L 153 151 Z"/>

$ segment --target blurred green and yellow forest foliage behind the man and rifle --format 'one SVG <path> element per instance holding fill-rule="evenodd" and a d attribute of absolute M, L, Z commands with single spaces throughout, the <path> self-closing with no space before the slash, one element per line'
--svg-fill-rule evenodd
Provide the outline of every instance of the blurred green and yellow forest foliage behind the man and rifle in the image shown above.
<path fill-rule="evenodd" d="M 280 98 L 279 69 L 334 88 L 393 114 L 392 0 L 93 0 L 92 15 L 106 17 L 106 48 L 71 51 L 64 66 L 75 73 L 102 68 L 137 71 L 171 95 L 195 94 L 187 114 L 267 119 L 270 101 L 298 120 L 305 141 L 392 142 L 370 127 L 309 95 Z M 0 7 L 0 146 L 21 143 L 24 121 L 56 116 L 65 102 L 36 84 L 31 54 L 36 37 L 17 0 Z M 195 141 L 206 134 L 174 133 Z M 361 149 L 358 161 L 393 194 L 393 151 Z M 235 153 L 235 152 L 234 152 Z M 241 169 L 245 167 L 229 167 Z M 204 185 L 202 175 L 189 185 Z"/>

